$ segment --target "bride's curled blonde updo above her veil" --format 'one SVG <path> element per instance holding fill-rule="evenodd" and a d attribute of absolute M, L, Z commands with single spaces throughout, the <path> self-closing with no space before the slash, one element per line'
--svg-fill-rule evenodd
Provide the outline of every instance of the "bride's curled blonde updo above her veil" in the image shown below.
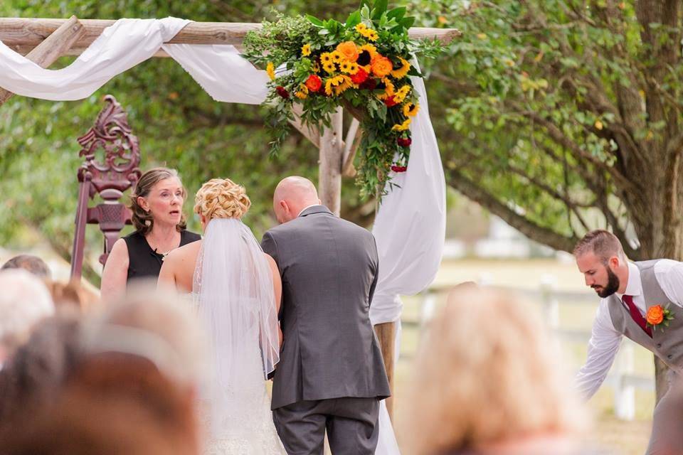
<path fill-rule="evenodd" d="M 204 183 L 194 197 L 194 211 L 206 220 L 213 218 L 240 219 L 251 207 L 244 187 L 229 178 L 212 178 Z"/>

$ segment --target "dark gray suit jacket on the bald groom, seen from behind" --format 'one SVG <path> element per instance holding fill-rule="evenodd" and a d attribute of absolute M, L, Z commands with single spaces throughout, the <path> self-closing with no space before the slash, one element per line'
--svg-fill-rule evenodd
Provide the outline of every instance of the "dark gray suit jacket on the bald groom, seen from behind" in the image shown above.
<path fill-rule="evenodd" d="M 369 318 L 377 284 L 373 235 L 324 205 L 263 235 L 282 276 L 285 342 L 272 385 L 272 409 L 302 400 L 390 395 Z"/>

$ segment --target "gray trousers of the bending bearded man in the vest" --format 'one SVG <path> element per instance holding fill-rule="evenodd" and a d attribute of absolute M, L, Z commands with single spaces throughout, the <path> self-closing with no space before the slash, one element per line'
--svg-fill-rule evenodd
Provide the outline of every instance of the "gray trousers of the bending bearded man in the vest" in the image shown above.
<path fill-rule="evenodd" d="M 683 455 L 682 374 L 669 370 L 669 390 L 655 407 L 647 455 Z"/>

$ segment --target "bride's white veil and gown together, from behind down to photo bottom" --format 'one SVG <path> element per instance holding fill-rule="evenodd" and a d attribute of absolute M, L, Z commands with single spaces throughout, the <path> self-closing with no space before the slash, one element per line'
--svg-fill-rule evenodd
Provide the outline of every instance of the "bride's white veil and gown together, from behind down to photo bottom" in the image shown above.
<path fill-rule="evenodd" d="M 285 454 L 265 387 L 279 360 L 272 277 L 240 220 L 208 223 L 191 297 L 211 347 L 199 391 L 203 454 Z"/>

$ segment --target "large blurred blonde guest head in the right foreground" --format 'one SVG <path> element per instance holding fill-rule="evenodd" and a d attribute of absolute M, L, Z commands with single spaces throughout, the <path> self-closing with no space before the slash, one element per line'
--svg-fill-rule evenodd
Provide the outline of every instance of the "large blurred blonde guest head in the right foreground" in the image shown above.
<path fill-rule="evenodd" d="M 414 454 L 564 454 L 581 429 L 556 344 L 531 306 L 507 294 L 454 291 L 416 360 Z"/>

